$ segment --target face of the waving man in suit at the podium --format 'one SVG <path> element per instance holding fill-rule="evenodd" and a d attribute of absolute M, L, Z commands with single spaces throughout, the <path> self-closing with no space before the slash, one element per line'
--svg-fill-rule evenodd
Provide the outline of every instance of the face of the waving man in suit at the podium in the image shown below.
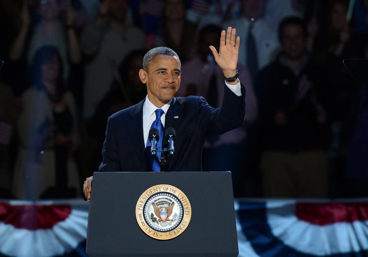
<path fill-rule="evenodd" d="M 175 56 L 157 55 L 149 63 L 148 71 L 139 72 L 147 86 L 148 99 L 157 108 L 169 102 L 180 87 L 180 61 Z"/>

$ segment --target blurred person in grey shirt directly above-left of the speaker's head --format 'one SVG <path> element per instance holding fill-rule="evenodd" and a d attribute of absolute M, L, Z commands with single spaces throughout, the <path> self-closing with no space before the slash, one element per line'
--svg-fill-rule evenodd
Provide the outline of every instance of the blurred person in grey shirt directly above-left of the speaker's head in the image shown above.
<path fill-rule="evenodd" d="M 134 49 L 146 47 L 144 32 L 126 23 L 127 10 L 127 0 L 101 1 L 99 14 L 81 34 L 86 58 L 83 119 L 89 119 L 96 111 L 124 57 Z"/>

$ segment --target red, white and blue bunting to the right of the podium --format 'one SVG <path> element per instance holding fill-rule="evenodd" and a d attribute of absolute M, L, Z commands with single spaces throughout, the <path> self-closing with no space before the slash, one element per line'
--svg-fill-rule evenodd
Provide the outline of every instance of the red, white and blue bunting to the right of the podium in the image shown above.
<path fill-rule="evenodd" d="M 368 256 L 366 201 L 235 201 L 239 256 Z"/>

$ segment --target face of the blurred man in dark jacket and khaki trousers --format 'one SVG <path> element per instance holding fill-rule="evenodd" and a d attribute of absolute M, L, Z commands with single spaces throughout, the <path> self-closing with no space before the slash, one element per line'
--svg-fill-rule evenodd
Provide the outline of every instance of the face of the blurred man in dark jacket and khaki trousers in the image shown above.
<path fill-rule="evenodd" d="M 285 25 L 282 30 L 281 45 L 284 55 L 290 59 L 298 59 L 305 52 L 305 36 L 300 25 Z"/>

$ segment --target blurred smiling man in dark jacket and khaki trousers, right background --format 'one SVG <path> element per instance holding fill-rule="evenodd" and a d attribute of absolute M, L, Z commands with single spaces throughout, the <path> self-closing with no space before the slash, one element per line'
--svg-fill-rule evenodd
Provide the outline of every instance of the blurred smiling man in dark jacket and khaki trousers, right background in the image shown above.
<path fill-rule="evenodd" d="M 324 76 L 300 17 L 279 25 L 282 52 L 256 80 L 264 197 L 328 197 L 330 127 Z"/>

